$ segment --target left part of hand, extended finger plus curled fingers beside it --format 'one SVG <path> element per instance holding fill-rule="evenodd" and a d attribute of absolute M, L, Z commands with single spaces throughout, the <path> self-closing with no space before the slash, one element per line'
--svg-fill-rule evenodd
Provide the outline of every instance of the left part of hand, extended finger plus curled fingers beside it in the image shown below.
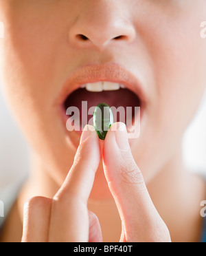
<path fill-rule="evenodd" d="M 32 198 L 25 204 L 22 242 L 102 242 L 98 217 L 87 209 L 100 141 L 84 128 L 73 166 L 54 198 Z"/>

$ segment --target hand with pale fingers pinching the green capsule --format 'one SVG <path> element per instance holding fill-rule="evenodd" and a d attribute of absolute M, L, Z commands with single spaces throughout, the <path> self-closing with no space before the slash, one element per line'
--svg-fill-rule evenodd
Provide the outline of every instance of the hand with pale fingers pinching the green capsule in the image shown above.
<path fill-rule="evenodd" d="M 168 228 L 133 160 L 126 127 L 114 125 L 119 129 L 108 131 L 103 157 L 106 180 L 122 219 L 120 241 L 170 242 Z M 25 205 L 23 242 L 102 242 L 98 217 L 87 209 L 99 162 L 98 136 L 84 129 L 73 166 L 58 193 L 53 199 L 32 198 Z"/>

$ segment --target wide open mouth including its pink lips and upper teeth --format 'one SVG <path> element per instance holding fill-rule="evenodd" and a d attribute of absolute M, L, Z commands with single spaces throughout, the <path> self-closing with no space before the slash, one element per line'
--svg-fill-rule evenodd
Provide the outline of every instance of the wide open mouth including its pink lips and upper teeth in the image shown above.
<path fill-rule="evenodd" d="M 70 74 L 57 105 L 66 138 L 77 148 L 84 126 L 93 125 L 95 107 L 101 103 L 111 107 L 114 122 L 126 124 L 128 138 L 138 138 L 147 101 L 138 70 L 133 74 L 118 63 L 88 63 Z"/>

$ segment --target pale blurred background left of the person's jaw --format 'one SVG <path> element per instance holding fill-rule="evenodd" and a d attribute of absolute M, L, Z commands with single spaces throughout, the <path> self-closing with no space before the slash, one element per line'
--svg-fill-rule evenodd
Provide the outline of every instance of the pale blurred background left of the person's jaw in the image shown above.
<path fill-rule="evenodd" d="M 5 215 L 28 170 L 29 149 L 5 103 L 0 84 L 0 200 L 6 202 Z"/>

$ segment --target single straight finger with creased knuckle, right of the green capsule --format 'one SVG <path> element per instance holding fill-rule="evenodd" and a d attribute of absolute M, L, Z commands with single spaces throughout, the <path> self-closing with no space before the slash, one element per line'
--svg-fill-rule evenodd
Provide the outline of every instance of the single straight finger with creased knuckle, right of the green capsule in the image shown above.
<path fill-rule="evenodd" d="M 171 242 L 130 151 L 126 126 L 115 123 L 104 142 L 104 173 L 122 220 L 121 242 Z"/>

